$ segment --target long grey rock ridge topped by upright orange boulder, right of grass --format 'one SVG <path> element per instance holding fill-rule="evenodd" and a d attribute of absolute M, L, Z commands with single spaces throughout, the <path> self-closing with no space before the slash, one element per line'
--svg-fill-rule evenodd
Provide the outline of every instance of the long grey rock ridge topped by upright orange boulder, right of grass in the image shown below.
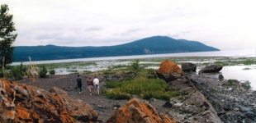
<path fill-rule="evenodd" d="M 169 114 L 178 122 L 215 122 L 220 123 L 220 117 L 206 97 L 197 90 L 183 70 L 174 62 L 162 62 L 157 71 L 160 78 L 168 82 L 169 89 L 182 93 L 183 96 L 171 98 Z M 169 77 L 175 76 L 175 77 Z M 175 78 L 175 79 L 170 79 Z"/>

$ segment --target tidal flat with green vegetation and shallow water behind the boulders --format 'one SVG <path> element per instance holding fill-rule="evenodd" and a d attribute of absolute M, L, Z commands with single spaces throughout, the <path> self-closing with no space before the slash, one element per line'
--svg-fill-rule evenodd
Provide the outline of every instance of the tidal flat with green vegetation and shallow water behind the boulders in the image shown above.
<path fill-rule="evenodd" d="M 241 82 L 249 81 L 252 89 L 256 89 L 256 58 L 255 57 L 151 57 L 121 60 L 98 60 L 89 62 L 62 62 L 40 64 L 54 69 L 56 75 L 69 75 L 73 73 L 93 73 L 98 71 L 127 70 L 132 62 L 138 60 L 142 69 L 159 69 L 159 65 L 169 59 L 181 66 L 183 62 L 197 65 L 197 72 L 207 65 L 223 66 L 217 73 L 206 74 L 214 77 L 223 75 L 225 80 L 233 79 Z"/>

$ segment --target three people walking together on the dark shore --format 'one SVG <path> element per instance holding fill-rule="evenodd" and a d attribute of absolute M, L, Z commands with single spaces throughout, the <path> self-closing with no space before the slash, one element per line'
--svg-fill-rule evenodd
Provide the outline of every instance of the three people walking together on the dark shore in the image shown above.
<path fill-rule="evenodd" d="M 78 74 L 77 83 L 78 83 L 78 89 L 80 94 L 82 93 L 82 78 L 80 74 Z M 91 76 L 89 76 L 87 80 L 87 84 L 88 84 L 90 95 L 92 95 L 92 89 L 94 89 L 95 95 L 100 95 L 100 85 L 99 85 L 100 81 L 97 79 L 96 75 L 94 76 L 93 80 Z"/>

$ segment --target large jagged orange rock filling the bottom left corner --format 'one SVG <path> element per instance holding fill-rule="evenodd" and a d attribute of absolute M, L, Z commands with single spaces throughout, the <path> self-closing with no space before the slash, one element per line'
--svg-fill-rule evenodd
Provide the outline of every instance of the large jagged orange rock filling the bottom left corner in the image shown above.
<path fill-rule="evenodd" d="M 97 112 L 64 90 L 0 79 L 0 122 L 94 122 Z"/>

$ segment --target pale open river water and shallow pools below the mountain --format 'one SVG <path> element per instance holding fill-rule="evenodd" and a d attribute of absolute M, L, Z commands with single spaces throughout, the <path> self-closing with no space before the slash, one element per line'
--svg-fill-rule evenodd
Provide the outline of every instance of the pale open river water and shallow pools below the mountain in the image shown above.
<path fill-rule="evenodd" d="M 154 55 L 136 55 L 136 56 L 121 56 L 121 57 L 92 57 L 92 58 L 78 58 L 78 59 L 64 59 L 64 60 L 50 60 L 50 61 L 36 61 L 33 64 L 45 64 L 45 63 L 59 63 L 59 62 L 89 62 L 96 61 L 98 67 L 87 66 L 88 71 L 98 71 L 107 69 L 107 65 L 121 64 L 121 62 L 111 62 L 121 59 L 141 59 L 141 58 L 152 58 L 152 57 L 254 57 L 256 59 L 255 49 L 244 49 L 244 50 L 227 50 L 227 51 L 216 51 L 216 52 L 186 52 L 186 53 L 168 53 L 168 54 L 154 54 Z M 23 62 L 24 65 L 30 64 L 31 62 Z M 128 64 L 128 62 L 123 62 Z M 21 62 L 13 62 L 12 65 L 20 65 Z M 106 68 L 105 68 L 106 66 Z M 62 68 L 60 68 L 62 69 Z M 158 69 L 158 68 L 156 68 Z M 199 71 L 197 69 L 197 71 Z M 83 71 L 83 70 L 81 70 Z M 69 74 L 65 70 L 57 70 L 56 74 Z M 238 65 L 238 66 L 224 66 L 223 69 L 216 73 L 217 75 L 222 74 L 226 80 L 234 79 L 246 81 L 251 83 L 251 86 L 256 90 L 256 65 Z"/>

